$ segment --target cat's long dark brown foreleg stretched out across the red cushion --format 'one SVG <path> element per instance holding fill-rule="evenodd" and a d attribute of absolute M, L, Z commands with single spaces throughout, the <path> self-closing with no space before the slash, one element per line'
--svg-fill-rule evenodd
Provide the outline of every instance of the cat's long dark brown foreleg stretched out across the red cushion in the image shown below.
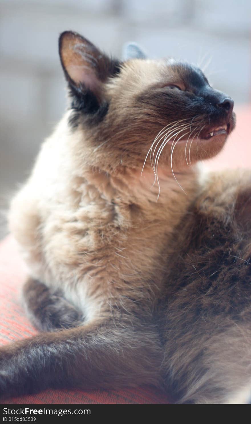
<path fill-rule="evenodd" d="M 134 319 L 134 318 L 133 318 Z M 0 393 L 46 388 L 160 386 L 162 350 L 152 324 L 96 320 L 45 332 L 0 349 Z"/>

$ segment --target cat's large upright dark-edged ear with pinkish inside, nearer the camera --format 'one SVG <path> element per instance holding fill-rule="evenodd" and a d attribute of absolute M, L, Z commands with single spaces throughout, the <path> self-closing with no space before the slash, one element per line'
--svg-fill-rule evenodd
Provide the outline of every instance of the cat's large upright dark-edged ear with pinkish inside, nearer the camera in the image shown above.
<path fill-rule="evenodd" d="M 70 88 L 79 95 L 91 92 L 100 103 L 102 84 L 119 72 L 119 62 L 72 31 L 65 31 L 59 37 L 59 55 Z"/>

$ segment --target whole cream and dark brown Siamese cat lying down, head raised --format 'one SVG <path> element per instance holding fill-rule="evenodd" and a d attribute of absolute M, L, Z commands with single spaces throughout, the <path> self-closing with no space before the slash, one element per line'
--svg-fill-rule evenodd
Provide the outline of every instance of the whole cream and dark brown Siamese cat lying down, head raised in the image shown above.
<path fill-rule="evenodd" d="M 42 332 L 0 348 L 0 393 L 150 384 L 248 402 L 251 176 L 196 167 L 233 130 L 233 100 L 191 64 L 127 52 L 60 36 L 69 110 L 9 214 Z"/>

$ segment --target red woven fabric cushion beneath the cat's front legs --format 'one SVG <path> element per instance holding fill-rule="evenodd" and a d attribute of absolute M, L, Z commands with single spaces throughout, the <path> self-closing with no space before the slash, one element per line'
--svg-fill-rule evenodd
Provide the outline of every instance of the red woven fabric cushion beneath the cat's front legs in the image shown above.
<path fill-rule="evenodd" d="M 0 343 L 36 334 L 20 304 L 26 269 L 12 237 L 0 243 Z M 170 398 L 169 398 L 170 399 Z M 1 403 L 1 402 L 0 402 Z M 157 389 L 141 387 L 124 390 L 46 390 L 36 395 L 11 398 L 13 404 L 165 404 L 168 396 Z"/>

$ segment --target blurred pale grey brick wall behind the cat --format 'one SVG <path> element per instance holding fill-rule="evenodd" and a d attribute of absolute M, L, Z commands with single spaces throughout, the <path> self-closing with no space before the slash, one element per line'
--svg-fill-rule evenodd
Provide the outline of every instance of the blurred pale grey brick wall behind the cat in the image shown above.
<path fill-rule="evenodd" d="M 0 0 L 0 8 L 3 215 L 66 107 L 62 31 L 78 31 L 116 56 L 124 42 L 135 41 L 150 57 L 191 61 L 206 67 L 210 82 L 235 103 L 250 101 L 250 0 Z"/>

